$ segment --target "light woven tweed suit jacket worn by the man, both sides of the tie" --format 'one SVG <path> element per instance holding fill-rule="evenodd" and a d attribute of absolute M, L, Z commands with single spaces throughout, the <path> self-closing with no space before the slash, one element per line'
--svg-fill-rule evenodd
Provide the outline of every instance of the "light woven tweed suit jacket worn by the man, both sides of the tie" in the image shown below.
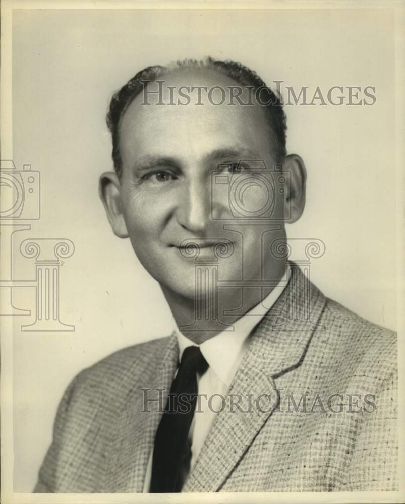
<path fill-rule="evenodd" d="M 78 374 L 34 491 L 141 492 L 162 415 L 157 401 L 145 412 L 141 389 L 165 398 L 177 364 L 171 335 Z M 295 268 L 253 331 L 182 491 L 396 490 L 396 404 L 396 334 Z"/>

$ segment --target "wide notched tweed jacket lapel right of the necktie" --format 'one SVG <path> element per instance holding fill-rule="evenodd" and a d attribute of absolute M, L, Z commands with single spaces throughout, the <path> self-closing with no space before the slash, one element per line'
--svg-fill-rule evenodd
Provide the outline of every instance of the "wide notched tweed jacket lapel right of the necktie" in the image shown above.
<path fill-rule="evenodd" d="M 288 266 L 290 281 L 254 330 L 230 385 L 226 406 L 214 420 L 184 492 L 213 492 L 221 488 L 276 408 L 275 380 L 301 364 L 314 331 L 324 329 L 317 323 L 325 297 L 295 263 Z M 236 394 L 234 407 L 232 394 Z"/>

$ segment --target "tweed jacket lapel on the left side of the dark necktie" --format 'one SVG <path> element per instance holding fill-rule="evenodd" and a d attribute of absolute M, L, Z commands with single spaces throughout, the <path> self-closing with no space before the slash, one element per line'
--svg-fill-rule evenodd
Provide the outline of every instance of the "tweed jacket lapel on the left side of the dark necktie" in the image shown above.
<path fill-rule="evenodd" d="M 176 371 L 179 347 L 176 335 L 168 338 L 166 351 L 156 373 L 150 366 L 150 373 L 142 377 L 143 384 L 131 389 L 117 424 L 112 426 L 114 436 L 111 443 L 108 481 L 105 492 L 142 492 L 149 456 L 154 444 L 155 433 L 162 416 L 157 402 L 149 403 L 149 412 L 144 409 L 142 388 L 150 389 L 150 398 L 157 398 L 156 389 L 161 389 L 166 404 L 167 394 Z M 113 489 L 113 490 L 112 490 Z"/>

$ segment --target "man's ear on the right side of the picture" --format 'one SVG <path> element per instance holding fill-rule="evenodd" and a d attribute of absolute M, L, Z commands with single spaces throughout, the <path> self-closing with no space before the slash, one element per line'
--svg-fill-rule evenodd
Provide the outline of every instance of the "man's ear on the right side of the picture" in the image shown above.
<path fill-rule="evenodd" d="M 286 184 L 284 215 L 285 222 L 292 224 L 301 217 L 304 211 L 307 170 L 298 154 L 289 154 L 284 160 L 283 171 L 290 173 L 290 183 Z"/>

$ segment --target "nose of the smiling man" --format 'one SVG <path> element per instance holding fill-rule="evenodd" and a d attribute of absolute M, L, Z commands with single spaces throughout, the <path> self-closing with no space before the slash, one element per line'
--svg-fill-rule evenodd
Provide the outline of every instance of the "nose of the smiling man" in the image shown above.
<path fill-rule="evenodd" d="M 178 223 L 193 233 L 206 230 L 211 212 L 211 191 L 204 180 L 191 180 L 184 188 L 178 202 Z"/>

